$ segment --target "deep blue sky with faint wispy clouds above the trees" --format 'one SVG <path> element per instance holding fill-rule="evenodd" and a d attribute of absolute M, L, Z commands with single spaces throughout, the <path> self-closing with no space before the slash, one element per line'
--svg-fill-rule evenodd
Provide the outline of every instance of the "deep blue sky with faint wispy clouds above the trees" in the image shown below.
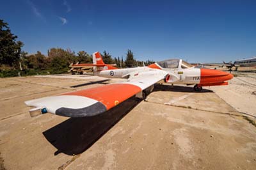
<path fill-rule="evenodd" d="M 222 62 L 256 56 L 256 1 L 1 0 L 23 50 L 131 49 L 136 59 Z"/>

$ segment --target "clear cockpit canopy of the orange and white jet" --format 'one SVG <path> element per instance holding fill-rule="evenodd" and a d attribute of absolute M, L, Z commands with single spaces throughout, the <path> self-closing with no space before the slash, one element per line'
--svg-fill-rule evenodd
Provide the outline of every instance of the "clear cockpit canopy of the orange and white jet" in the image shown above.
<path fill-rule="evenodd" d="M 191 68 L 191 67 L 193 67 L 186 61 L 183 61 L 182 59 L 168 59 L 168 60 L 164 60 L 164 61 L 159 61 L 159 62 L 157 62 L 157 64 L 159 66 L 161 66 L 162 68 L 172 68 L 172 69 L 173 68 Z M 180 67 L 179 67 L 179 65 L 180 65 Z"/>

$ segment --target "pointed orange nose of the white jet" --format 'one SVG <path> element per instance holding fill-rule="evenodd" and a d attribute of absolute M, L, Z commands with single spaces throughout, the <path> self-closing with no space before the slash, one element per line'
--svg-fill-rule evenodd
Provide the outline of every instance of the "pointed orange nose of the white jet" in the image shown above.
<path fill-rule="evenodd" d="M 201 68 L 200 84 L 209 84 L 216 82 L 225 82 L 232 79 L 234 76 L 231 73 L 222 72 L 220 70 L 211 70 Z"/>

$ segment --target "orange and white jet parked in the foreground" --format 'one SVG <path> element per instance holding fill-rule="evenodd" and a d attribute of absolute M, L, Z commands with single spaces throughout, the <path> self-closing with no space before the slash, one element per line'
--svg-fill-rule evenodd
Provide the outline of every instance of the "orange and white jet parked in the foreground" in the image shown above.
<path fill-rule="evenodd" d="M 95 116 L 134 95 L 145 99 L 156 83 L 195 84 L 195 91 L 201 91 L 202 86 L 227 85 L 227 81 L 233 78 L 232 74 L 220 70 L 195 68 L 182 59 L 168 59 L 149 66 L 118 69 L 104 64 L 100 53 L 95 52 L 91 65 L 95 75 L 126 78 L 127 81 L 26 101 L 26 105 L 35 107 L 29 111 L 30 115 L 51 112 L 68 117 Z"/>

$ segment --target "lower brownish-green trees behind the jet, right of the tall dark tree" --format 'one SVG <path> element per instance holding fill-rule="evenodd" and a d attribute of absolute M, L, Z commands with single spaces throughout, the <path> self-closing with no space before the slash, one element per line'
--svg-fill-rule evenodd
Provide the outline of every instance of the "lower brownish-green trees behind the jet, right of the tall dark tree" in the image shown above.
<path fill-rule="evenodd" d="M 72 50 L 61 49 L 61 48 L 52 48 L 47 51 L 48 56 L 44 56 L 40 51 L 36 54 L 28 55 L 27 52 L 20 52 L 20 63 L 22 68 L 29 69 L 55 69 L 60 70 L 67 68 L 70 63 L 92 63 L 92 55 L 88 54 L 85 51 L 79 51 L 77 54 L 72 52 Z M 136 61 L 131 50 L 127 50 L 125 61 L 123 57 L 112 58 L 111 54 L 104 52 L 101 54 L 104 63 L 106 64 L 116 64 L 119 68 L 125 67 L 134 67 L 134 66 L 143 66 L 143 61 Z M 150 65 L 154 63 L 153 61 L 146 61 L 145 65 Z"/>

